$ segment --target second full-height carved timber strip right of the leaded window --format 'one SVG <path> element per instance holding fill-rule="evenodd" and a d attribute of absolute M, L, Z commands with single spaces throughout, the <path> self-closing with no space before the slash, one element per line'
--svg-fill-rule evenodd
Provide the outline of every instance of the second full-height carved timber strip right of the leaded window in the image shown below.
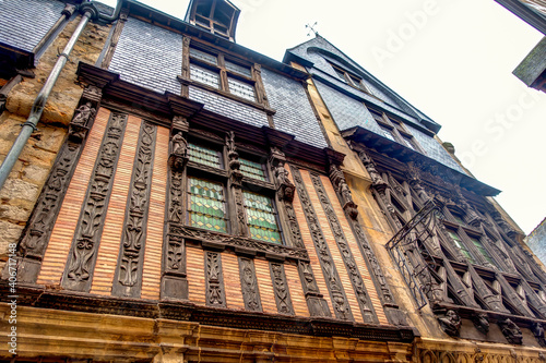
<path fill-rule="evenodd" d="M 360 276 L 360 271 L 356 266 L 355 258 L 353 256 L 353 252 L 351 251 L 347 239 L 345 238 L 345 233 L 343 232 L 342 226 L 337 216 L 335 215 L 335 210 L 330 203 L 330 198 L 322 185 L 320 177 L 311 173 L 311 180 L 314 185 L 314 190 L 319 196 L 319 201 L 322 205 L 322 209 L 324 209 L 324 214 L 327 215 L 328 222 L 330 223 L 330 228 L 332 233 L 334 234 L 335 243 L 340 249 L 340 253 L 345 264 L 345 268 L 351 278 L 351 283 L 353 285 L 353 289 L 355 290 L 355 294 L 358 301 L 358 305 L 360 306 L 360 311 L 363 313 L 363 318 L 365 323 L 378 323 L 378 318 L 375 314 L 373 306 L 368 298 L 368 292 L 366 291 L 366 287 L 364 285 L 363 277 Z M 349 211 L 347 211 L 349 214 Z"/>

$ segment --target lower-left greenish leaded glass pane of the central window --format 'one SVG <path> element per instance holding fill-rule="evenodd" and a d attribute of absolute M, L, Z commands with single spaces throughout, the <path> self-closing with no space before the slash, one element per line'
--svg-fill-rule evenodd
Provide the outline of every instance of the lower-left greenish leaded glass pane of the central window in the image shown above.
<path fill-rule="evenodd" d="M 189 223 L 216 232 L 227 232 L 224 185 L 188 178 Z"/>

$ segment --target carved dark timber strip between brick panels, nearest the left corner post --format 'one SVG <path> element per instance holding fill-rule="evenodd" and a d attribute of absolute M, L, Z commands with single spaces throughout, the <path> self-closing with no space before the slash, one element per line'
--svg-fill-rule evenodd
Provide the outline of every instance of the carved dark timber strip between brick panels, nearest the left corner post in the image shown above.
<path fill-rule="evenodd" d="M 62 287 L 88 292 L 127 114 L 111 113 L 69 252 Z"/>

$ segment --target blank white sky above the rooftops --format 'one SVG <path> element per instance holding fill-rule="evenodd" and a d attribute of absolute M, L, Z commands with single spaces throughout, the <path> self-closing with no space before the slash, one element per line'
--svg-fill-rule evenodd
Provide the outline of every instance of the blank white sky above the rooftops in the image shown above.
<path fill-rule="evenodd" d="M 115 0 L 103 0 L 115 5 Z M 144 0 L 183 19 L 188 0 Z M 442 125 L 530 233 L 546 217 L 546 94 L 512 71 L 542 34 L 494 0 L 232 0 L 237 43 L 281 61 L 306 24 Z M 311 35 L 312 36 L 312 35 Z"/>

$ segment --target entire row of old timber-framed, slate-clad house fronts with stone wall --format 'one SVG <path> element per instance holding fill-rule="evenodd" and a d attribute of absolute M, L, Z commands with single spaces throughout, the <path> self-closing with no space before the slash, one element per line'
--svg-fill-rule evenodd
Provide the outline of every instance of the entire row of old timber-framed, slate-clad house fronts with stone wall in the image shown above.
<path fill-rule="evenodd" d="M 0 3 L 2 155 L 70 59 L 0 192 L 4 360 L 546 359 L 546 274 L 438 123 L 229 1 L 111 11 Z"/>

